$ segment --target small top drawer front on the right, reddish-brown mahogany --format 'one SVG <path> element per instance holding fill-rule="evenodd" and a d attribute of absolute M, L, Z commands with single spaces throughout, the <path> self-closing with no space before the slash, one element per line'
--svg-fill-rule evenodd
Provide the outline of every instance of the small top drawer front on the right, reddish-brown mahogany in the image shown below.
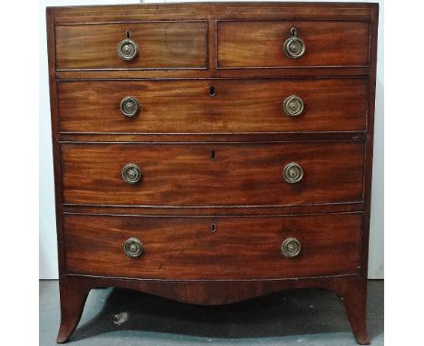
<path fill-rule="evenodd" d="M 297 58 L 284 53 L 292 27 L 304 43 Z M 217 68 L 368 66 L 369 30 L 366 22 L 217 22 Z"/>

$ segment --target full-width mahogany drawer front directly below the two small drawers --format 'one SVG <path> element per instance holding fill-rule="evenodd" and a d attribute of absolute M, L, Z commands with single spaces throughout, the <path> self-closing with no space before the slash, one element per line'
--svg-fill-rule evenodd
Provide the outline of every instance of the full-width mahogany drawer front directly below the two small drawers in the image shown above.
<path fill-rule="evenodd" d="M 60 130 L 109 133 L 366 130 L 367 83 L 365 78 L 59 82 Z M 213 96 L 211 91 L 215 92 Z M 300 98 L 303 110 L 284 111 L 284 101 L 287 104 L 286 100 L 293 95 Z M 128 97 L 140 104 L 136 115 L 120 109 L 121 102 Z"/>

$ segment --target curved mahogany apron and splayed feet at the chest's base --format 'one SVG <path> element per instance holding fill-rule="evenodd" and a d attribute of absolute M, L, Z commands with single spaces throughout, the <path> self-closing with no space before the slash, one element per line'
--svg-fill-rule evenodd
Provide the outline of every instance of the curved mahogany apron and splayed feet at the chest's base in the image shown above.
<path fill-rule="evenodd" d="M 339 294 L 342 303 L 346 306 L 346 302 L 351 302 L 358 309 L 354 314 L 347 314 L 348 321 L 351 323 L 352 331 L 355 331 L 355 338 L 360 344 L 369 344 L 370 339 L 367 336 L 366 329 L 363 326 L 364 315 L 363 298 L 356 300 L 358 296 L 362 296 L 363 289 L 361 285 L 363 280 L 358 275 L 335 276 L 322 278 L 307 278 L 296 280 L 243 280 L 243 281 L 171 281 L 171 280 L 134 280 L 120 278 L 105 278 L 99 276 L 83 276 L 68 274 L 61 280 L 61 285 L 75 288 L 75 290 L 86 290 L 105 287 L 120 287 L 125 289 L 139 290 L 145 293 L 152 293 L 166 297 L 178 302 L 196 303 L 207 305 L 218 305 L 226 303 L 235 303 L 254 298 L 266 293 L 274 293 L 283 290 L 293 290 L 302 288 L 320 288 L 332 290 Z M 366 283 L 366 282 L 365 282 Z M 352 287 L 352 290 L 346 290 Z M 354 290 L 356 289 L 356 291 Z M 82 295 L 72 294 L 71 289 L 66 292 L 66 297 L 70 302 L 79 306 L 85 301 Z M 356 301 L 355 301 L 356 300 Z M 360 311 L 361 310 L 361 311 Z M 70 311 L 71 312 L 71 311 Z M 73 314 L 66 315 L 68 331 L 73 331 L 80 321 L 82 311 L 72 310 Z M 349 310 L 352 313 L 352 310 Z M 354 319 L 352 317 L 357 317 Z M 61 325 L 62 326 L 62 325 Z M 58 336 L 58 342 L 68 340 L 72 332 L 65 334 L 65 328 L 61 329 Z M 65 339 L 66 338 L 66 339 Z M 71 339 L 72 341 L 72 339 Z"/>

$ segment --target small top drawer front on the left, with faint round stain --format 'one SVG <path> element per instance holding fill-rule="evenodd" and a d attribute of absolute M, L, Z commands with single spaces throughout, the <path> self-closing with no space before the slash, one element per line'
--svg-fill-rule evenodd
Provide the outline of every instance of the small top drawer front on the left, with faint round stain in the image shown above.
<path fill-rule="evenodd" d="M 118 55 L 127 38 L 138 46 L 130 61 Z M 207 68 L 207 22 L 57 25 L 56 64 L 68 69 Z"/>

